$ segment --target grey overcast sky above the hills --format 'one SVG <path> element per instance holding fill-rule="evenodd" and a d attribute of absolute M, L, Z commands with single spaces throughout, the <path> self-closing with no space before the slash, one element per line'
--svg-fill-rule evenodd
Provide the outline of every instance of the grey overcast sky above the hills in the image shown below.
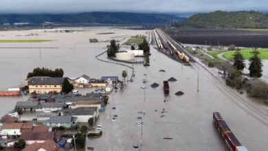
<path fill-rule="evenodd" d="M 181 13 L 268 10 L 268 0 L 1 0 L 0 13 L 93 11 Z"/>

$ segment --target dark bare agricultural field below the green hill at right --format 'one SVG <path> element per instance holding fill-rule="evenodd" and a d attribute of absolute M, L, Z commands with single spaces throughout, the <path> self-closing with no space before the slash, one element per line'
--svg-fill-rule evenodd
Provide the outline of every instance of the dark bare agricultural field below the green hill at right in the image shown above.
<path fill-rule="evenodd" d="M 245 31 L 229 29 L 162 29 L 174 40 L 194 45 L 236 45 L 236 47 L 268 47 L 268 30 Z"/>

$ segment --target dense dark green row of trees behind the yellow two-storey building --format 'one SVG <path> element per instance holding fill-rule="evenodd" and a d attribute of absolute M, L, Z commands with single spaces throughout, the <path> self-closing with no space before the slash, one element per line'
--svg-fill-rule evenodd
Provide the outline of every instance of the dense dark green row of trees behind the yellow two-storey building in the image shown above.
<path fill-rule="evenodd" d="M 47 76 L 47 77 L 54 77 L 54 78 L 62 78 L 64 74 L 63 69 L 52 69 L 48 68 L 35 68 L 32 72 L 28 73 L 27 78 L 31 78 L 34 76 Z"/>

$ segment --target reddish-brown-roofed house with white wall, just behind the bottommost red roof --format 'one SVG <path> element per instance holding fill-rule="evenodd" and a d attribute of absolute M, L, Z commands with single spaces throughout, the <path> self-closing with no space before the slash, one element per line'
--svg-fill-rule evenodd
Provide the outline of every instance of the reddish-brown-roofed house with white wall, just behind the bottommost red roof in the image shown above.
<path fill-rule="evenodd" d="M 47 139 L 54 140 L 55 132 L 22 132 L 21 139 L 26 142 L 26 145 L 32 143 L 44 143 Z"/>

